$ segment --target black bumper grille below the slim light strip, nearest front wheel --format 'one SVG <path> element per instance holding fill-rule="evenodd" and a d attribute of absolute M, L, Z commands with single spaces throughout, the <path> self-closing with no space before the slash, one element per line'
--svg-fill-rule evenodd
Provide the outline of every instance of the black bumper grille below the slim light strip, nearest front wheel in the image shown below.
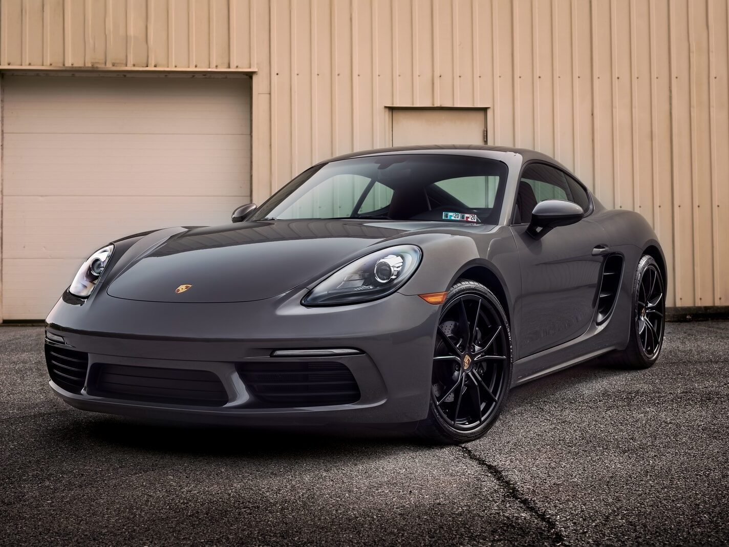
<path fill-rule="evenodd" d="M 340 362 L 243 363 L 238 373 L 257 406 L 327 406 L 359 400 L 357 382 Z"/>

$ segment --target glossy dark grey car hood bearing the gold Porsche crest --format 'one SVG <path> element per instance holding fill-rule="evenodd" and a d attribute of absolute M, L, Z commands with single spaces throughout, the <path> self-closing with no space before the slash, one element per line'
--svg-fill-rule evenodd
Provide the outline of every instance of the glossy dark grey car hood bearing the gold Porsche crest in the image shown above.
<path fill-rule="evenodd" d="M 106 292 L 155 302 L 262 300 L 327 274 L 373 244 L 434 226 L 443 223 L 276 220 L 195 228 L 149 249 Z"/>

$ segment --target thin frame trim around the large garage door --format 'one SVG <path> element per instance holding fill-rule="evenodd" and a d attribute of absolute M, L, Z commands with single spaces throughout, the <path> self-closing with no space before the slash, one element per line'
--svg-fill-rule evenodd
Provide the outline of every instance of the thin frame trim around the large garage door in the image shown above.
<path fill-rule="evenodd" d="M 253 174 L 254 168 L 254 103 L 255 103 L 255 86 L 257 80 L 254 78 L 257 71 L 254 69 L 155 69 L 147 67 L 138 68 L 119 68 L 111 66 L 98 66 L 98 67 L 51 67 L 38 69 L 37 67 L 29 67 L 23 69 L 22 67 L 13 67 L 12 69 L 0 69 L 0 324 L 1 323 L 12 323 L 12 324 L 23 324 L 35 322 L 37 319 L 5 319 L 4 302 L 3 302 L 3 290 L 4 290 L 4 272 L 2 268 L 3 257 L 4 257 L 4 91 L 5 91 L 5 76 L 37 76 L 37 77 L 154 77 L 154 78 L 199 78 L 199 79 L 221 79 L 221 78 L 244 78 L 248 77 L 251 79 L 251 95 L 249 102 L 250 117 L 251 117 L 251 141 L 249 150 L 250 154 L 250 168 L 251 168 L 251 193 L 254 192 L 254 180 Z"/>

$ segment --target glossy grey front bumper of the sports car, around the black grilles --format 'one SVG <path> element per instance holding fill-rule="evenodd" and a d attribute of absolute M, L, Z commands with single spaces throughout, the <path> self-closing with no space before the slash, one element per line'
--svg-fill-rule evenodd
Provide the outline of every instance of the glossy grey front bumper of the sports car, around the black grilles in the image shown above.
<path fill-rule="evenodd" d="M 83 387 L 50 381 L 66 403 L 88 411 L 147 419 L 214 424 L 402 423 L 424 419 L 430 393 L 433 335 L 440 306 L 395 293 L 356 306 L 305 308 L 305 291 L 243 303 L 157 303 L 99 293 L 74 305 L 63 299 L 47 319 L 47 332 L 66 344 L 50 349 L 88 354 Z M 286 349 L 351 348 L 338 357 L 272 357 Z M 319 406 L 262 406 L 241 368 L 281 363 L 346 366 L 359 399 Z M 154 397 L 100 393 L 101 366 L 209 371 L 225 389 L 219 406 L 168 403 Z M 75 391 L 75 392 L 74 392 Z"/>

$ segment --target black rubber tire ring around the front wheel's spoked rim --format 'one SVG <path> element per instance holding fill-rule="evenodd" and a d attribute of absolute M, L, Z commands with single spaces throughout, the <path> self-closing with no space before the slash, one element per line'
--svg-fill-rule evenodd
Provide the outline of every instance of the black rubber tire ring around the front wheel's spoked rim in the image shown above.
<path fill-rule="evenodd" d="M 499 303 L 499 300 L 494 296 L 494 293 L 488 290 L 486 287 L 484 287 L 482 284 L 477 282 L 458 282 L 453 285 L 451 288 L 451 291 L 448 292 L 448 297 L 445 299 L 445 302 L 443 303 L 443 306 L 441 307 L 440 314 L 443 314 L 443 310 L 448 307 L 448 304 L 451 303 L 453 300 L 456 300 L 456 298 L 460 298 L 464 295 L 477 295 L 480 296 L 480 298 L 483 298 L 484 300 L 488 301 L 489 304 L 493 307 L 494 311 L 496 311 L 496 314 L 499 316 L 500 321 L 502 322 L 502 327 L 504 328 L 504 331 L 506 333 L 506 351 L 507 351 L 507 361 L 504 364 L 506 367 L 506 379 L 505 379 L 505 386 L 504 386 L 504 395 L 500 398 L 499 402 L 496 403 L 496 408 L 494 408 L 494 411 L 491 412 L 491 416 L 488 417 L 486 422 L 484 422 L 480 427 L 478 427 L 475 430 L 472 431 L 460 431 L 456 430 L 453 427 L 451 427 L 448 422 L 445 422 L 445 419 L 443 419 L 443 416 L 440 416 L 440 413 L 437 411 L 437 407 L 435 406 L 434 400 L 432 398 L 432 395 L 430 397 L 430 403 L 429 403 L 429 419 L 432 419 L 432 421 L 436 424 L 437 428 L 442 432 L 443 435 L 447 436 L 450 441 L 455 441 L 457 443 L 460 442 L 467 442 L 472 441 L 476 438 L 479 438 L 481 435 L 486 433 L 491 426 L 496 422 L 496 419 L 499 417 L 499 414 L 501 414 L 502 408 L 504 407 L 504 403 L 506 402 L 509 391 L 511 389 L 511 381 L 512 381 L 512 371 L 513 371 L 513 354 L 512 354 L 512 342 L 511 342 L 511 329 L 509 325 L 509 321 L 507 320 L 506 314 L 504 313 L 504 309 Z M 438 324 L 440 325 L 440 314 L 438 316 Z M 436 338 L 434 336 L 433 338 L 433 349 L 435 349 L 436 344 Z M 432 377 L 432 366 L 431 366 L 431 377 Z"/>

